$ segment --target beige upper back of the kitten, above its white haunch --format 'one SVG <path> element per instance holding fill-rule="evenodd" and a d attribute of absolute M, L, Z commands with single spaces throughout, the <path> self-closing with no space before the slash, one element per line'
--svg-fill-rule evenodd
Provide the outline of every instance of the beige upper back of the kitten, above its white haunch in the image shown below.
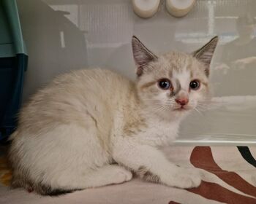
<path fill-rule="evenodd" d="M 133 83 L 113 71 L 93 68 L 56 77 L 20 111 L 20 126 L 29 131 L 70 121 L 84 123 L 85 113 L 111 117 Z"/>

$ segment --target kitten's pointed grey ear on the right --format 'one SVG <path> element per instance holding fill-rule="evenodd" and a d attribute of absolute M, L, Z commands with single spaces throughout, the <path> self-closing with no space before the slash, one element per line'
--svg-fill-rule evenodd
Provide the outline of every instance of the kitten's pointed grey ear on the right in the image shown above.
<path fill-rule="evenodd" d="M 200 60 L 206 65 L 206 76 L 209 75 L 209 68 L 211 63 L 211 58 L 214 55 L 214 50 L 217 46 L 219 38 L 218 36 L 215 36 L 213 39 L 211 39 L 208 43 L 206 43 L 203 47 L 196 50 L 192 53 L 192 55 L 197 58 L 197 60 Z"/>

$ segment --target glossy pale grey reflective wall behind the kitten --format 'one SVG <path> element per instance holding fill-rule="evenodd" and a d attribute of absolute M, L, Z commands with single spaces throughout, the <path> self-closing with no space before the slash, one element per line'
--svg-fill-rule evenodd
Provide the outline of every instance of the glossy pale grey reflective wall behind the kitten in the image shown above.
<path fill-rule="evenodd" d="M 129 0 L 17 1 L 29 52 L 24 101 L 71 69 L 103 66 L 134 79 L 132 34 L 154 52 L 191 52 L 219 35 L 211 67 L 217 98 L 211 110 L 187 119 L 177 143 L 256 142 L 256 1 L 197 0 L 183 18 L 170 16 L 162 1 L 147 20 L 132 12 Z"/>

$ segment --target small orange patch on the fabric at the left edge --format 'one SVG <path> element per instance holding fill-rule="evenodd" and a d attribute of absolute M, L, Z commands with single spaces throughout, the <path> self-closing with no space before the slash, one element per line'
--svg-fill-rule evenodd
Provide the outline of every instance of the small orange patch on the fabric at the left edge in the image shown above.
<path fill-rule="evenodd" d="M 4 186 L 10 186 L 10 181 L 12 179 L 12 172 L 7 164 L 6 157 L 0 157 L 0 184 Z"/>

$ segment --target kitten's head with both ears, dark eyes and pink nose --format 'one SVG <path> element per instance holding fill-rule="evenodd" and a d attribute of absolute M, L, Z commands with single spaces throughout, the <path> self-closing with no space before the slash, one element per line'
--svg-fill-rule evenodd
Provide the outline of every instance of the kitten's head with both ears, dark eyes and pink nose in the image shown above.
<path fill-rule="evenodd" d="M 215 36 L 192 54 L 168 52 L 157 56 L 133 36 L 140 101 L 152 113 L 166 119 L 181 118 L 205 103 L 209 96 L 209 68 L 217 42 Z"/>

